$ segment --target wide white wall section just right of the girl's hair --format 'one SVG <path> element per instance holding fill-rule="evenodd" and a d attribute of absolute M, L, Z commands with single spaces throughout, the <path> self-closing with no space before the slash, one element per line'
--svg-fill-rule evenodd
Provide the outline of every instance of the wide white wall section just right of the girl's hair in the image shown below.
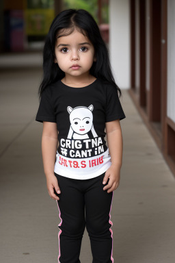
<path fill-rule="evenodd" d="M 129 19 L 129 0 L 109 0 L 109 55 L 120 88 L 130 88 Z"/>

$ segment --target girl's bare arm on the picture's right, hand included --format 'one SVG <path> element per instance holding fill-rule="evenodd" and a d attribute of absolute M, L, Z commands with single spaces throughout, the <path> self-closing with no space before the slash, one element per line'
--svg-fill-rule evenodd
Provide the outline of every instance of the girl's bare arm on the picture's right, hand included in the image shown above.
<path fill-rule="evenodd" d="M 111 166 L 107 169 L 103 184 L 108 184 L 103 188 L 107 192 L 116 190 L 120 184 L 120 168 L 122 167 L 122 129 L 120 126 L 120 120 L 109 121 L 106 123 L 107 145 L 109 147 L 109 153 L 111 155 Z"/>

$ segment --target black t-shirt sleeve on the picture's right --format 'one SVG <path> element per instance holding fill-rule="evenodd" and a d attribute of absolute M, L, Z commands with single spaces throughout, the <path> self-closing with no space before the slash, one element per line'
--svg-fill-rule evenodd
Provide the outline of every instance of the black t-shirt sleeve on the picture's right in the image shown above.
<path fill-rule="evenodd" d="M 117 88 L 108 86 L 106 99 L 106 123 L 117 119 L 121 121 L 123 118 L 126 118 L 118 97 Z"/>

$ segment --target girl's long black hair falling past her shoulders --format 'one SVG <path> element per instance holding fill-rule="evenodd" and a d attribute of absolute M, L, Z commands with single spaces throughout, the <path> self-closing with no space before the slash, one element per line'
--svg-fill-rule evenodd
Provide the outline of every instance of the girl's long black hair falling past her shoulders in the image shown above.
<path fill-rule="evenodd" d="M 38 94 L 42 95 L 45 88 L 58 79 L 62 79 L 65 73 L 54 63 L 55 58 L 55 42 L 57 32 L 60 30 L 70 29 L 71 34 L 74 29 L 79 30 L 89 38 L 94 46 L 96 62 L 93 62 L 90 68 L 90 74 L 96 78 L 106 80 L 118 89 L 119 95 L 122 95 L 120 88 L 117 86 L 113 74 L 111 72 L 111 64 L 109 62 L 109 53 L 100 30 L 92 15 L 83 10 L 68 9 L 60 12 L 51 23 L 49 33 L 46 36 L 43 49 L 43 78 L 38 90 Z M 68 35 L 68 34 L 65 34 Z"/>

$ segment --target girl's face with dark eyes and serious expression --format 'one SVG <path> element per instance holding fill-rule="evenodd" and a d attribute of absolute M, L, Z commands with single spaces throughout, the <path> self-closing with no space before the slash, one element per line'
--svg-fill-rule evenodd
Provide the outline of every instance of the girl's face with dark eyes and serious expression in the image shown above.
<path fill-rule="evenodd" d="M 57 34 L 54 62 L 64 71 L 66 77 L 89 77 L 90 68 L 95 61 L 94 53 L 90 40 L 77 29 L 68 36 Z"/>

